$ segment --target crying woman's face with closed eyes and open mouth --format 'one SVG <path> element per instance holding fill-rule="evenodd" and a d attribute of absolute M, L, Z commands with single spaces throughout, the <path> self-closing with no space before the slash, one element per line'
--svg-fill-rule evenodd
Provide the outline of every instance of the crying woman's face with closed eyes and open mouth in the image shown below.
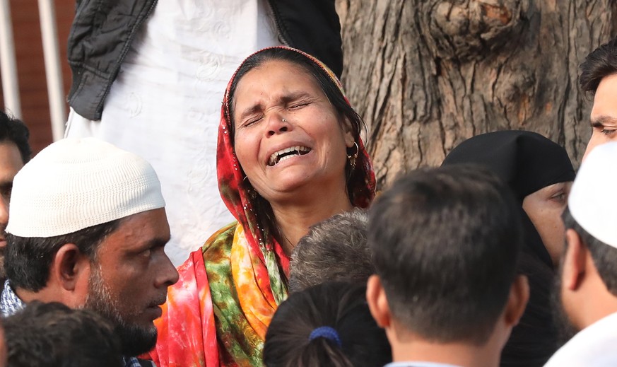
<path fill-rule="evenodd" d="M 234 106 L 235 153 L 262 197 L 289 199 L 301 187 L 345 190 L 353 134 L 307 71 L 264 62 L 237 84 Z"/>

